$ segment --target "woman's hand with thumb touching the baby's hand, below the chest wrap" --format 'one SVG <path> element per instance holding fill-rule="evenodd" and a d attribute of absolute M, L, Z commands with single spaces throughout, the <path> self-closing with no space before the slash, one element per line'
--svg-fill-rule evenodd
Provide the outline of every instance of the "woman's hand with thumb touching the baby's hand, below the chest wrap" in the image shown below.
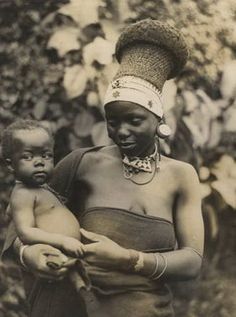
<path fill-rule="evenodd" d="M 84 229 L 80 229 L 80 232 L 86 240 L 91 241 L 91 243 L 83 245 L 86 262 L 110 269 L 122 268 L 129 263 L 130 254 L 127 249 L 103 235 Z"/>

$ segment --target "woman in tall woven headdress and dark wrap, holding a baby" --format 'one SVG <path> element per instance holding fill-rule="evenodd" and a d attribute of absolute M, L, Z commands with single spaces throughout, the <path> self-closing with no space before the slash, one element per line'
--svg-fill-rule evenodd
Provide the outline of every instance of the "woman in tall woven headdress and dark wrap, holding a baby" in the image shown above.
<path fill-rule="evenodd" d="M 76 150 L 56 168 L 51 185 L 86 229 L 84 261 L 94 296 L 89 302 L 84 295 L 88 316 L 173 316 L 166 282 L 199 273 L 203 222 L 197 174 L 159 148 L 159 137 L 169 135 L 162 87 L 187 56 L 182 35 L 169 25 L 148 19 L 124 30 L 116 45 L 120 68 L 104 101 L 115 145 Z M 5 249 L 14 239 L 12 234 Z M 14 245 L 25 265 L 46 278 L 31 287 L 31 316 L 64 317 L 68 311 L 85 316 L 66 278 L 48 283 L 64 278 L 72 263 L 49 246 L 19 248 L 17 240 Z M 50 253 L 63 263 L 58 270 L 46 265 Z"/>

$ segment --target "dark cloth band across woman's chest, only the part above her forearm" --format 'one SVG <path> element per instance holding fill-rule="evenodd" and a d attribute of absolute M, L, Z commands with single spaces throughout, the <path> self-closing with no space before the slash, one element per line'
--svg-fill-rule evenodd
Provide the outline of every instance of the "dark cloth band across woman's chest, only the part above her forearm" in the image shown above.
<path fill-rule="evenodd" d="M 173 224 L 163 218 L 118 208 L 86 210 L 81 226 L 112 239 L 120 246 L 143 252 L 173 250 L 176 239 Z"/>

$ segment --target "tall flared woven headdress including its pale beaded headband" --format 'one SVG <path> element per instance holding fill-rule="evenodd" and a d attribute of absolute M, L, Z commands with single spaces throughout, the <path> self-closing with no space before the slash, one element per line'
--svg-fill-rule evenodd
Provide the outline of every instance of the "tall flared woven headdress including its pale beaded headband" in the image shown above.
<path fill-rule="evenodd" d="M 174 78 L 188 59 L 183 35 L 169 24 L 141 20 L 121 33 L 115 56 L 120 67 L 108 87 L 104 106 L 130 101 L 162 118 L 164 83 Z"/>

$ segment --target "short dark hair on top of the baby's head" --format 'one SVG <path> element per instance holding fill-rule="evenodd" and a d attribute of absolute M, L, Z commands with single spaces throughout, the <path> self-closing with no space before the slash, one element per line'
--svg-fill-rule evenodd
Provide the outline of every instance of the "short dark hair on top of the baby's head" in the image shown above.
<path fill-rule="evenodd" d="M 12 157 L 12 154 L 14 153 L 14 132 L 19 130 L 37 130 L 37 129 L 43 129 L 45 130 L 50 138 L 53 141 L 52 133 L 51 131 L 45 127 L 41 122 L 37 120 L 29 120 L 29 119 L 20 119 L 12 124 L 10 124 L 2 134 L 2 157 L 3 159 L 8 159 Z"/>

